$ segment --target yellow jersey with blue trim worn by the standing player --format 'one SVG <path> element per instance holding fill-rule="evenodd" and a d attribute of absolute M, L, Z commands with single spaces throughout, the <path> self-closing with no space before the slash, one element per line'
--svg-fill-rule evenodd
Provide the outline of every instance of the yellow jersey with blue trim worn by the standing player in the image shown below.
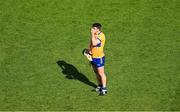
<path fill-rule="evenodd" d="M 98 34 L 97 39 L 100 41 L 100 43 L 96 46 L 93 46 L 91 49 L 92 52 L 92 58 L 102 58 L 104 57 L 104 45 L 105 45 L 105 35 L 103 32 L 100 32 Z"/>

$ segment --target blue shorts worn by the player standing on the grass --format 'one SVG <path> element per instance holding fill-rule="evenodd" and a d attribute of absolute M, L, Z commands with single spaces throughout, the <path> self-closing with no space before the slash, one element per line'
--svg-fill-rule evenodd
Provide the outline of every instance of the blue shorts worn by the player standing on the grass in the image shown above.
<path fill-rule="evenodd" d="M 104 66 L 104 64 L 105 64 L 105 56 L 102 57 L 102 58 L 92 58 L 91 64 L 94 65 L 97 68 Z"/>

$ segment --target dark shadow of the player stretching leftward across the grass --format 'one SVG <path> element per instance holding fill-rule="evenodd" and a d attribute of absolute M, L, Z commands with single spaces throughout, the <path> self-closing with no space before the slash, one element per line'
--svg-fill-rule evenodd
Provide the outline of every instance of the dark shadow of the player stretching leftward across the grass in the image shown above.
<path fill-rule="evenodd" d="M 62 73 L 66 75 L 67 79 L 76 79 L 83 82 L 84 84 L 94 88 L 96 87 L 94 83 L 89 81 L 89 79 L 84 74 L 80 73 L 78 69 L 72 64 L 66 63 L 65 61 L 57 61 L 56 63 L 60 66 Z"/>

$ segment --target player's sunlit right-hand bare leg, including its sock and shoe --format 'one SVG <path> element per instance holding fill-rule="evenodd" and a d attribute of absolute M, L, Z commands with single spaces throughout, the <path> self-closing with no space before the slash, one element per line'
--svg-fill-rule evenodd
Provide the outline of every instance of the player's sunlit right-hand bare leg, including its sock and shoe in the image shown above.
<path fill-rule="evenodd" d="M 101 77 L 101 83 L 102 83 L 101 94 L 104 95 L 107 93 L 107 89 L 106 89 L 107 79 L 106 79 L 106 74 L 104 72 L 104 66 L 98 67 L 97 70 L 98 70 L 98 74 Z"/>

